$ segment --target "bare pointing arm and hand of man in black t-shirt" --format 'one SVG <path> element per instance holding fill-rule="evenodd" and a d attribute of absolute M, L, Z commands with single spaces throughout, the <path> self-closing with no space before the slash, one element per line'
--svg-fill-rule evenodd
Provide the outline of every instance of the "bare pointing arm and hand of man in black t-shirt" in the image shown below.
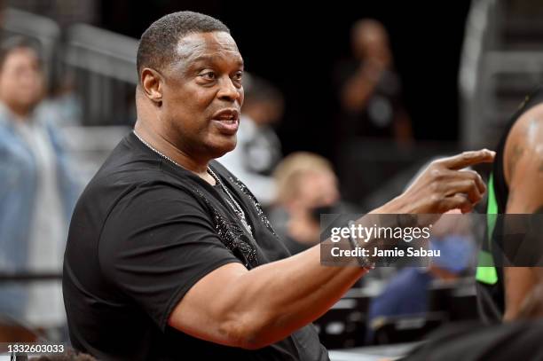
<path fill-rule="evenodd" d="M 444 213 L 470 210 L 485 192 L 471 164 L 492 161 L 490 151 L 433 162 L 404 194 L 374 213 Z M 371 216 L 358 220 L 374 224 Z M 341 242 L 340 242 L 341 243 Z M 359 267 L 327 267 L 319 246 L 248 271 L 226 264 L 199 280 L 169 317 L 169 325 L 207 341 L 258 349 L 319 318 L 364 273 Z"/>

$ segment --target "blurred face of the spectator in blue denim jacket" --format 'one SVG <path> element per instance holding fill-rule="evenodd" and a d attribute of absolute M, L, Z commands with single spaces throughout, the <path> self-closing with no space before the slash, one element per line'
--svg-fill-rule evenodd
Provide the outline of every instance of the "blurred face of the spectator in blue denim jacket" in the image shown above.
<path fill-rule="evenodd" d="M 0 98 L 7 106 L 27 111 L 43 95 L 43 75 L 35 51 L 11 51 L 0 69 Z"/>

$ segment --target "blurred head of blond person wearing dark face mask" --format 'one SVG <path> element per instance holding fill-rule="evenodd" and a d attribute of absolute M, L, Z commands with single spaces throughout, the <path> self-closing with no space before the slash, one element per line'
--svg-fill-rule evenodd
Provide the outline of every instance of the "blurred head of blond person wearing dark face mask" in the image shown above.
<path fill-rule="evenodd" d="M 274 176 L 278 193 L 271 224 L 295 255 L 319 243 L 320 214 L 339 212 L 337 179 L 330 162 L 312 153 L 288 155 Z"/>

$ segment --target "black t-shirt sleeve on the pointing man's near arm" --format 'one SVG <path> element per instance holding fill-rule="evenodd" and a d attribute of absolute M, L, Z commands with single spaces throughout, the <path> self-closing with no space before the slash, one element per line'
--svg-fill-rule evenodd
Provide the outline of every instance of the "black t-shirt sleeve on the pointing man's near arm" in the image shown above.
<path fill-rule="evenodd" d="M 138 186 L 114 206 L 98 257 L 106 279 L 161 330 L 198 280 L 226 263 L 240 263 L 201 204 L 165 184 Z"/>

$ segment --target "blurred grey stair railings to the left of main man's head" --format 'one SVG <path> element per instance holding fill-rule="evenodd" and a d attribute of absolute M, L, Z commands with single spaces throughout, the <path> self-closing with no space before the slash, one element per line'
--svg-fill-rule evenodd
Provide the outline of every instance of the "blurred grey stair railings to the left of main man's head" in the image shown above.
<path fill-rule="evenodd" d="M 130 125 L 135 121 L 138 41 L 87 24 L 67 27 L 46 17 L 7 8 L 4 35 L 25 35 L 41 45 L 45 72 L 72 76 L 81 100 L 83 125 Z"/>

